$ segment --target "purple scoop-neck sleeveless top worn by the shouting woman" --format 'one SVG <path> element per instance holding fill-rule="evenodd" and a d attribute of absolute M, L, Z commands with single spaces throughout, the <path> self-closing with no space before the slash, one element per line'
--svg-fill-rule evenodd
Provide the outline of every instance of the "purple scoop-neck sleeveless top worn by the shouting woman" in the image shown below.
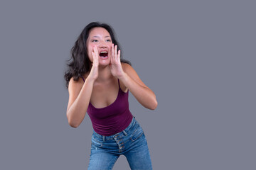
<path fill-rule="evenodd" d="M 85 79 L 82 77 L 85 82 Z M 128 94 L 120 88 L 114 103 L 105 108 L 95 108 L 89 102 L 87 113 L 92 121 L 92 127 L 100 135 L 111 136 L 122 132 L 132 122 L 132 113 L 129 111 Z"/>

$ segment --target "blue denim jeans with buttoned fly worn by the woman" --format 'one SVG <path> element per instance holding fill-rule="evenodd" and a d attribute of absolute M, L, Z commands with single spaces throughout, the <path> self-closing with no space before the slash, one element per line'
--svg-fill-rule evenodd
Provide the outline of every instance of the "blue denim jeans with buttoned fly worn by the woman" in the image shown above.
<path fill-rule="evenodd" d="M 93 131 L 88 169 L 112 169 L 122 154 L 131 169 L 152 169 L 146 137 L 135 118 L 125 130 L 112 136 L 102 136 Z"/>

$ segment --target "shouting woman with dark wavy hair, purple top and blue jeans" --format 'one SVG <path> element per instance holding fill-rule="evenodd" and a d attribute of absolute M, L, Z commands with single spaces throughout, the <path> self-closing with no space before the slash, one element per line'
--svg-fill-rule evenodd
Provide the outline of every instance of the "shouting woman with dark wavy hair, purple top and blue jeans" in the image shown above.
<path fill-rule="evenodd" d="M 114 32 L 102 23 L 90 23 L 71 50 L 65 80 L 69 92 L 67 118 L 77 128 L 87 112 L 93 134 L 88 169 L 112 169 L 127 157 L 131 169 L 152 169 L 142 128 L 129 111 L 130 91 L 142 106 L 154 110 L 156 96 L 121 58 Z"/>

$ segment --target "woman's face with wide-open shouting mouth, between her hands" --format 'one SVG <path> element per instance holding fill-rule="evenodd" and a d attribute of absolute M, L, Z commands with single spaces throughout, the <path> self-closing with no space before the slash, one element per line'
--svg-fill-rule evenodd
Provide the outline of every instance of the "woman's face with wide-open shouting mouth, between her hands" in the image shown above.
<path fill-rule="evenodd" d="M 90 61 L 93 62 L 92 52 L 93 47 L 97 47 L 99 55 L 99 64 L 110 64 L 112 40 L 110 33 L 102 27 L 95 27 L 90 30 L 89 36 L 86 40 L 87 55 Z"/>

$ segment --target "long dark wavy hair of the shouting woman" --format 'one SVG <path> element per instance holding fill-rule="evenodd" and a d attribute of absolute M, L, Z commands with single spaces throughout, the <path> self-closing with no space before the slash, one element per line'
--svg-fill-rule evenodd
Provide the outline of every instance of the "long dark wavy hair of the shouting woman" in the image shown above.
<path fill-rule="evenodd" d="M 99 22 L 92 22 L 89 23 L 83 30 L 82 33 L 79 35 L 78 40 L 75 41 L 75 45 L 71 48 L 71 57 L 68 60 L 68 70 L 65 72 L 64 79 L 66 81 L 66 87 L 68 88 L 68 83 L 70 79 L 73 77 L 75 81 L 78 81 L 79 77 L 82 77 L 83 74 L 90 72 L 90 59 L 87 55 L 87 47 L 86 47 L 86 40 L 89 36 L 90 30 L 95 27 L 102 27 L 105 28 L 109 33 L 112 39 L 112 43 L 117 45 L 117 51 L 121 50 L 119 42 L 115 38 L 114 30 L 111 28 L 110 25 L 107 23 L 99 23 Z M 128 60 L 122 59 L 122 53 L 120 56 L 121 62 L 125 62 L 127 64 L 131 64 Z"/>

